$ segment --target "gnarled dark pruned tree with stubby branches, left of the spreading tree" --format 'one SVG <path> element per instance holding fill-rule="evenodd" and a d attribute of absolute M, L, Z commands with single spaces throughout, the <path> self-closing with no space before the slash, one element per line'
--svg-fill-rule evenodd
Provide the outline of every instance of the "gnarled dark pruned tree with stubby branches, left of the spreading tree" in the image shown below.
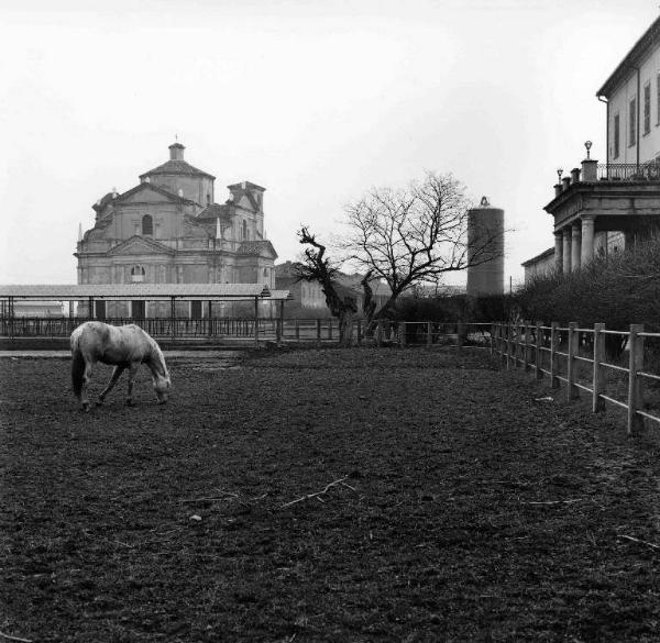
<path fill-rule="evenodd" d="M 343 297 L 337 291 L 339 268 L 326 256 L 326 246 L 316 240 L 307 226 L 298 231 L 298 239 L 305 248 L 304 262 L 298 266 L 297 277 L 302 281 L 318 281 L 326 296 L 326 303 L 332 317 L 339 320 L 339 345 L 350 346 L 353 337 L 353 314 L 358 311 L 355 298 Z"/>

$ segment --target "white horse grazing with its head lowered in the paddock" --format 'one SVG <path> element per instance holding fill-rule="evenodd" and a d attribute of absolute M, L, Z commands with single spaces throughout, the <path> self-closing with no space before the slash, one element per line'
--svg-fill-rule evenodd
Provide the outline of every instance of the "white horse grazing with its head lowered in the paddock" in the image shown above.
<path fill-rule="evenodd" d="M 70 336 L 72 379 L 74 393 L 84 411 L 89 411 L 87 387 L 91 380 L 91 369 L 97 362 L 114 365 L 108 386 L 99 395 L 97 406 L 103 403 L 119 376 L 129 369 L 129 395 L 127 404 L 133 404 L 133 383 L 141 364 L 152 372 L 154 391 L 158 403 L 167 401 L 172 383 L 165 365 L 163 352 L 156 341 L 139 325 L 112 326 L 99 321 L 88 321 L 79 325 Z"/>

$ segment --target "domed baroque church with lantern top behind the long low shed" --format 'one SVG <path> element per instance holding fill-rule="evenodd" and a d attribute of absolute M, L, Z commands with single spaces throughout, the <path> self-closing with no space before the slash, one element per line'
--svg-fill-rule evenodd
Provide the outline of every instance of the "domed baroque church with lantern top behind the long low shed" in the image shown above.
<path fill-rule="evenodd" d="M 216 202 L 216 177 L 184 159 L 140 175 L 130 190 L 107 193 L 94 206 L 95 224 L 79 231 L 74 256 L 78 284 L 263 284 L 275 287 L 277 253 L 264 233 L 264 191 L 253 182 L 228 186 Z M 177 314 L 201 317 L 201 302 L 182 302 Z M 97 317 L 160 317 L 165 302 L 97 301 Z M 162 309 L 162 310 L 161 310 Z M 221 310 L 218 311 L 222 312 Z"/>

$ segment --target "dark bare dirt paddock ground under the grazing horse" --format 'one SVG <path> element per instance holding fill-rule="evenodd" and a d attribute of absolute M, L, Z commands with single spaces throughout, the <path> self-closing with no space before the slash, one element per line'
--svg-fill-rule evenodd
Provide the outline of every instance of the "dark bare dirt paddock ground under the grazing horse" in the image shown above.
<path fill-rule="evenodd" d="M 67 362 L 0 362 L 3 634 L 660 640 L 650 430 L 476 351 L 169 366 L 82 414 Z"/>

